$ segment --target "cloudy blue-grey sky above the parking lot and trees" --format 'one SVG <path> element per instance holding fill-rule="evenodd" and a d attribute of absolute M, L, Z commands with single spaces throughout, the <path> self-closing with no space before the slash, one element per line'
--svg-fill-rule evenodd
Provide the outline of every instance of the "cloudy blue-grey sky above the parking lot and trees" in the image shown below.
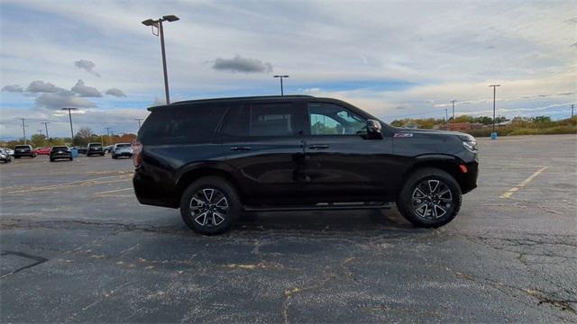
<path fill-rule="evenodd" d="M 44 129 L 135 132 L 170 100 L 334 97 L 383 121 L 492 114 L 567 118 L 577 102 L 576 1 L 0 0 L 0 139 Z M 191 125 L 194 127 L 194 125 Z"/>

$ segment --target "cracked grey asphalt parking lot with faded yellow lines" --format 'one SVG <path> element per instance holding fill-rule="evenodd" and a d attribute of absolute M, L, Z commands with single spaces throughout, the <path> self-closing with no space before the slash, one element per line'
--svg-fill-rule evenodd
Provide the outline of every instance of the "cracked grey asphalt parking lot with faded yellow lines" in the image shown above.
<path fill-rule="evenodd" d="M 2 322 L 575 322 L 577 136 L 480 139 L 457 219 L 246 214 L 204 237 L 130 159 L 0 166 Z"/>

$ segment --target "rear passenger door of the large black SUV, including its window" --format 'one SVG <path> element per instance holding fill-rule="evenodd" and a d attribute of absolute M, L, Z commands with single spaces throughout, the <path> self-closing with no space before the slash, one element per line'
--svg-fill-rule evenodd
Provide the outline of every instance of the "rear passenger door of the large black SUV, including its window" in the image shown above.
<path fill-rule="evenodd" d="M 246 203 L 289 203 L 298 196 L 305 178 L 302 117 L 286 102 L 248 103 L 227 113 L 223 149 Z"/>

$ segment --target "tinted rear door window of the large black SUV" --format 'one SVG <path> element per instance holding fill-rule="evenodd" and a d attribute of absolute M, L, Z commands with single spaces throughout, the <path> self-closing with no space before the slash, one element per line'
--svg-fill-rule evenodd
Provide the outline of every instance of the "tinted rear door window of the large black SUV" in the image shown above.
<path fill-rule="evenodd" d="M 295 112 L 291 103 L 253 103 L 250 108 L 231 109 L 221 132 L 233 136 L 295 135 Z"/>

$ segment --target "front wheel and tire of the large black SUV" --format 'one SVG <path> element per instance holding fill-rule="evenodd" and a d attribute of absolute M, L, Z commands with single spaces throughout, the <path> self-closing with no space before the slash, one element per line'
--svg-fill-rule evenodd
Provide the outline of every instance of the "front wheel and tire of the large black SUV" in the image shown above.
<path fill-rule="evenodd" d="M 461 202 L 461 187 L 453 176 L 441 169 L 426 167 L 408 176 L 398 194 L 397 208 L 413 225 L 436 228 L 457 216 Z"/>

